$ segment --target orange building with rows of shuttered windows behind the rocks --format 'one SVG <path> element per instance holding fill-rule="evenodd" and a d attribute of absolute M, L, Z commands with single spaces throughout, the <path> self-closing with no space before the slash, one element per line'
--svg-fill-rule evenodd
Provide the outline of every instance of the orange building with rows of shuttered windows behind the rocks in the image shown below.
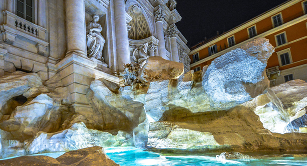
<path fill-rule="evenodd" d="M 307 0 L 289 0 L 205 43 L 189 53 L 191 69 L 201 70 L 232 49 L 257 37 L 275 47 L 268 60 L 271 86 L 292 79 L 307 81 Z"/>

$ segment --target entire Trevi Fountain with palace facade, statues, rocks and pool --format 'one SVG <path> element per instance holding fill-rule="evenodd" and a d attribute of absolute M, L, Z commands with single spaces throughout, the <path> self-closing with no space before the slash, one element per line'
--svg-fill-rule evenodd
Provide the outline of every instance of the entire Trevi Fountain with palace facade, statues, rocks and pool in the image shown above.
<path fill-rule="evenodd" d="M 6 0 L 0 165 L 307 165 L 307 82 L 270 88 L 269 40 L 194 72 L 176 1 L 144 1 L 47 0 L 66 30 L 31 36 Z"/>

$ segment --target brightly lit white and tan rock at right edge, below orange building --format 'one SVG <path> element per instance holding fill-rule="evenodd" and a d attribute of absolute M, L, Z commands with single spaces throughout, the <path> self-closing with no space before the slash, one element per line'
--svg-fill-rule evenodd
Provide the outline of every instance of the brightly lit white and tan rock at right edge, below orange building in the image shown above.
<path fill-rule="evenodd" d="M 295 122 L 292 122 L 292 126 L 288 124 L 306 114 L 307 82 L 299 79 L 291 80 L 271 89 L 283 104 L 281 108 L 276 106 L 268 95 L 260 95 L 254 99 L 259 105 L 255 108 L 255 113 L 259 115 L 264 127 L 278 133 L 299 131 L 299 127 L 302 127 L 299 124 Z M 285 113 L 280 109 L 284 109 Z"/>

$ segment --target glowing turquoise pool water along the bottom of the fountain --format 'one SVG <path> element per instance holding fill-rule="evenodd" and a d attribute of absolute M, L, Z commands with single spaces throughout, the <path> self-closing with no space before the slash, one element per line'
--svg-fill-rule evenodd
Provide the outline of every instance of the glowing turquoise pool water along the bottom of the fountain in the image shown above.
<path fill-rule="evenodd" d="M 122 166 L 130 165 L 307 165 L 307 157 L 267 157 L 260 159 L 232 159 L 218 160 L 216 153 L 201 155 L 188 155 L 177 153 L 160 153 L 145 151 L 135 147 L 110 147 L 104 148 L 106 154 Z M 34 155 L 47 155 L 56 158 L 64 152 L 44 153 Z M 258 156 L 261 156 L 258 154 Z M 7 159 L 7 158 L 5 158 Z"/>

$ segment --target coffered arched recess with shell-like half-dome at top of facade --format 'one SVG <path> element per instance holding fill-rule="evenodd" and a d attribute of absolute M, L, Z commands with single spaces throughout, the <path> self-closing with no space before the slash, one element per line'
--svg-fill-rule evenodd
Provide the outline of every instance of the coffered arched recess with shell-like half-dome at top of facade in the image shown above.
<path fill-rule="evenodd" d="M 126 11 L 132 17 L 132 20 L 129 22 L 131 29 L 128 32 L 130 39 L 145 39 L 153 34 L 153 27 L 149 24 L 151 21 L 138 1 L 127 0 Z"/>

